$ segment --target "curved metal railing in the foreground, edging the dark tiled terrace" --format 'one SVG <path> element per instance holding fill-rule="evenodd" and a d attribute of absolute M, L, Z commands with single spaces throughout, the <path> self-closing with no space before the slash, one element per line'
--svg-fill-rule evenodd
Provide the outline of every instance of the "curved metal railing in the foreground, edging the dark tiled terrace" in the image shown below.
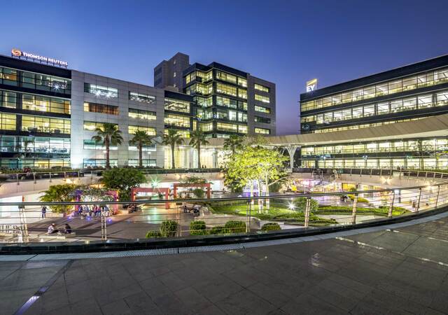
<path fill-rule="evenodd" d="M 428 179 L 430 184 L 261 197 L 225 197 L 220 194 L 211 199 L 145 199 L 132 204 L 3 202 L 0 204 L 0 243 L 10 246 L 142 239 L 152 242 L 173 237 L 208 239 L 291 231 L 319 232 L 335 227 L 387 223 L 394 218 L 406 218 L 448 205 L 448 183 L 435 180 L 448 179 L 447 174 L 419 171 L 401 174 Z M 44 217 L 41 212 L 43 205 L 52 209 Z M 66 214 L 56 214 L 55 206 L 66 207 Z M 55 223 L 57 231 L 48 233 L 52 223 Z"/>

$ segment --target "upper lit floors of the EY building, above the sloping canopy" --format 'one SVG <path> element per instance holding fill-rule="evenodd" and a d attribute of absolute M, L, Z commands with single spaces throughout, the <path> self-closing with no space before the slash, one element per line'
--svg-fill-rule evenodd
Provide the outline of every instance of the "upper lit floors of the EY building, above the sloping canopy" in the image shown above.
<path fill-rule="evenodd" d="M 302 133 L 360 129 L 448 112 L 448 55 L 300 94 Z"/>

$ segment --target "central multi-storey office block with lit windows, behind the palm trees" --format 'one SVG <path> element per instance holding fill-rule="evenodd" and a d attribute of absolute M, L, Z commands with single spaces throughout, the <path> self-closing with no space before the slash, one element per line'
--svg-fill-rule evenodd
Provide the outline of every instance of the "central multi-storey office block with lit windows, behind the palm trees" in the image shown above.
<path fill-rule="evenodd" d="M 154 69 L 155 83 L 160 83 L 160 87 L 170 85 L 188 59 L 178 52 L 169 61 L 160 63 Z M 179 82 L 176 86 L 179 87 Z M 276 134 L 276 91 L 272 82 L 212 62 L 207 66 L 195 63 L 185 67 L 181 87 L 194 99 L 191 127 L 199 126 L 207 137 Z"/>

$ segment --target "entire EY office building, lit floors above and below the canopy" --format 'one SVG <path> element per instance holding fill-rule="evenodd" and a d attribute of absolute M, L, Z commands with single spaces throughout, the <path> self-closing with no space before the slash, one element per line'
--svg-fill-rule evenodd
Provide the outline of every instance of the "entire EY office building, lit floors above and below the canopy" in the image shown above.
<path fill-rule="evenodd" d="M 300 104 L 302 167 L 448 167 L 448 55 L 306 92 Z"/>

